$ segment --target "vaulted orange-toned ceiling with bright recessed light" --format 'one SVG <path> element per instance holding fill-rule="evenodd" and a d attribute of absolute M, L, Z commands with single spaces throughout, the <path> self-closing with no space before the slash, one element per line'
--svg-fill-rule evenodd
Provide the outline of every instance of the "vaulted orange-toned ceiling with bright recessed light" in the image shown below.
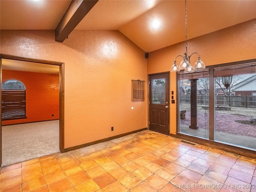
<path fill-rule="evenodd" d="M 0 29 L 54 30 L 70 2 L 0 0 Z M 187 0 L 187 15 L 190 39 L 256 18 L 256 0 Z M 185 1 L 99 0 L 75 30 L 119 30 L 151 52 L 185 40 Z"/>

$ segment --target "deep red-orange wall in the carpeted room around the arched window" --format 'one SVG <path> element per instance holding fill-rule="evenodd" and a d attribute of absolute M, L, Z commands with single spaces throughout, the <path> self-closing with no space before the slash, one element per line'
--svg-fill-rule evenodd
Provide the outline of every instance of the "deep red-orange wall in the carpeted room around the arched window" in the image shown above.
<path fill-rule="evenodd" d="M 2 70 L 2 82 L 10 79 L 19 80 L 26 86 L 27 118 L 4 120 L 2 125 L 59 119 L 58 74 Z"/>

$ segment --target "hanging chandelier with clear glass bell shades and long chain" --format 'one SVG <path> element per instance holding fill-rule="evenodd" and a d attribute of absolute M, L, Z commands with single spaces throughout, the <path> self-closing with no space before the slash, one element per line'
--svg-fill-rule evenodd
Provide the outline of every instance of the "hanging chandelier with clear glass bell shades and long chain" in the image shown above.
<path fill-rule="evenodd" d="M 176 56 L 175 60 L 174 60 L 174 64 L 172 65 L 171 67 L 171 72 L 179 72 L 180 70 L 183 70 L 184 69 L 184 72 L 185 73 L 191 73 L 191 72 L 194 72 L 196 70 L 201 70 L 201 69 L 205 69 L 205 64 L 204 62 L 201 61 L 200 59 L 200 55 L 198 52 L 194 52 L 192 53 L 190 56 L 188 56 L 188 40 L 187 40 L 187 2 L 185 0 L 185 26 L 186 26 L 186 43 L 185 43 L 185 46 L 186 46 L 186 52 L 184 52 L 184 56 L 182 55 L 178 55 Z M 198 60 L 197 62 L 194 64 L 194 66 L 192 67 L 191 64 L 190 64 L 190 57 L 194 54 L 197 54 L 198 55 Z M 176 64 L 176 59 L 178 57 L 183 57 L 183 60 L 182 62 L 180 63 L 180 65 L 178 66 Z"/>

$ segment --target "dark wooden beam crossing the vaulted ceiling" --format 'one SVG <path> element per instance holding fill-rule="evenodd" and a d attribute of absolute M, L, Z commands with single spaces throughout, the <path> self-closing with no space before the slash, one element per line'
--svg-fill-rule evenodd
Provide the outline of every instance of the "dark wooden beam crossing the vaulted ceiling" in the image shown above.
<path fill-rule="evenodd" d="M 98 0 L 72 0 L 55 29 L 55 41 L 63 42 Z"/>

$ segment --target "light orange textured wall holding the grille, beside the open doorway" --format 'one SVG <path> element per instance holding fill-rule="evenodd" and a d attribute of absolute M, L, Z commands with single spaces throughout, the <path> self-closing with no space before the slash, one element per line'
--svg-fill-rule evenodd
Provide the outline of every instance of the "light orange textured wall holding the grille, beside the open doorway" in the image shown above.
<path fill-rule="evenodd" d="M 60 43 L 54 30 L 1 30 L 0 40 L 2 54 L 64 62 L 65 148 L 148 126 L 147 99 L 131 98 L 132 79 L 147 80 L 145 53 L 119 31 L 74 30 Z"/>

